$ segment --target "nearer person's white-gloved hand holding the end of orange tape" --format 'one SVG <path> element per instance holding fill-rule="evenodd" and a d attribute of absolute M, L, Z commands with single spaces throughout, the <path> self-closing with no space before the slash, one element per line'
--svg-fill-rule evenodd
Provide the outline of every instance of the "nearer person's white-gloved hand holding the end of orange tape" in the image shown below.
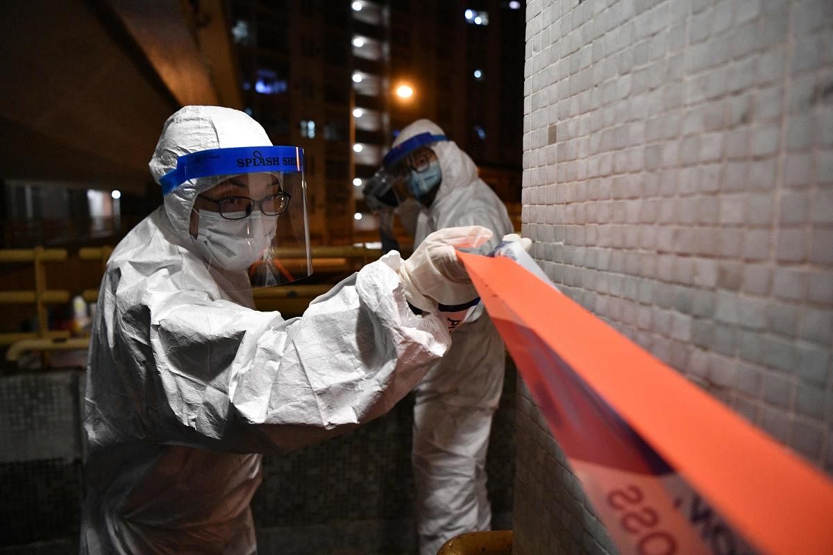
<path fill-rule="evenodd" d="M 456 248 L 476 248 L 491 239 L 482 225 L 447 227 L 428 235 L 399 268 L 408 302 L 424 312 L 441 305 L 462 305 L 477 298 L 477 291 L 457 260 Z"/>

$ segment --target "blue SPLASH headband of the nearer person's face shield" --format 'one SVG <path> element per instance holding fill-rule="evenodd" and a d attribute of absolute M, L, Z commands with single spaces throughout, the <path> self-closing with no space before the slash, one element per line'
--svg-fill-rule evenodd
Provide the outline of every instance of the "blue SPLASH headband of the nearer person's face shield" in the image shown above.
<path fill-rule="evenodd" d="M 162 195 L 182 183 L 209 176 L 234 176 L 263 172 L 304 171 L 304 150 L 298 146 L 238 146 L 192 152 L 177 158 L 177 167 L 159 180 Z"/>

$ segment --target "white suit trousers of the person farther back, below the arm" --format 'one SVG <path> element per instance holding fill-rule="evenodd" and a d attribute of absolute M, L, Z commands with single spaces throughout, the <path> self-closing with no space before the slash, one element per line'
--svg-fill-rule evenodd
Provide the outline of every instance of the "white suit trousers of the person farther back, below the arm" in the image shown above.
<path fill-rule="evenodd" d="M 500 399 L 503 342 L 486 314 L 452 336 L 446 357 L 416 387 L 413 468 L 421 555 L 491 528 L 486 450 Z"/>

